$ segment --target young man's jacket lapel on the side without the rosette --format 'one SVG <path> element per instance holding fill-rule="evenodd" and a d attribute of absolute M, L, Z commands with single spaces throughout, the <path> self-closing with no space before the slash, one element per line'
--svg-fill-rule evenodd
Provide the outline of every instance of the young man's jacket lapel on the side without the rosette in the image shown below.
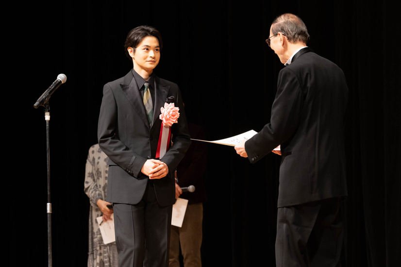
<path fill-rule="evenodd" d="M 125 75 L 124 82 L 120 84 L 120 86 L 128 101 L 130 101 L 135 111 L 139 114 L 139 117 L 141 117 L 143 122 L 150 128 L 145 106 L 143 105 L 143 99 L 132 71 Z"/>

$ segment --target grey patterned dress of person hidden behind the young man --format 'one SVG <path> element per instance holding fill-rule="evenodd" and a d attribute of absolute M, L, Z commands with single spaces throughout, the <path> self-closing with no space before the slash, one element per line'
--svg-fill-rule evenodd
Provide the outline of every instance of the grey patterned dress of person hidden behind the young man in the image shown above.
<path fill-rule="evenodd" d="M 85 167 L 84 191 L 89 198 L 89 250 L 88 267 L 117 267 L 116 243 L 105 245 L 101 238 L 100 229 L 96 218 L 102 213 L 96 202 L 106 199 L 107 191 L 107 156 L 99 145 L 93 145 L 89 149 Z"/>

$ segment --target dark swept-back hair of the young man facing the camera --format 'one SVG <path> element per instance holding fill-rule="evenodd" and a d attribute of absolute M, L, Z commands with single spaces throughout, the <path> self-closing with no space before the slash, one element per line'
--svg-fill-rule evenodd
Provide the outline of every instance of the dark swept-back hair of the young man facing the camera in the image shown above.
<path fill-rule="evenodd" d="M 131 47 L 133 48 L 134 52 L 136 47 L 139 45 L 140 42 L 146 37 L 146 36 L 153 36 L 156 37 L 157 40 L 159 40 L 159 46 L 160 50 L 162 50 L 163 47 L 163 41 L 162 41 L 162 35 L 159 33 L 156 28 L 153 28 L 148 25 L 142 25 L 138 26 L 134 29 L 132 29 L 128 35 L 127 38 L 125 39 L 125 54 L 127 57 L 131 58 L 130 53 L 128 52 L 128 48 Z"/>

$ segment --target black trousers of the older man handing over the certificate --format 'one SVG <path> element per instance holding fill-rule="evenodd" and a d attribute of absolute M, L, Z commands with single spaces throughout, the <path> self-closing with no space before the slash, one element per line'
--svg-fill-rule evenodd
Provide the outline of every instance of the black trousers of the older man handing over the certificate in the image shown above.
<path fill-rule="evenodd" d="M 282 207 L 277 214 L 277 267 L 340 267 L 342 200 Z"/>

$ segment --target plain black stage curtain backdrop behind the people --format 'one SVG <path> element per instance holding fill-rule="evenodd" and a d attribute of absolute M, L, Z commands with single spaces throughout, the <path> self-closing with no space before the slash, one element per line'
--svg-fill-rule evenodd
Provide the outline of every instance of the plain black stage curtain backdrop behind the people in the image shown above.
<path fill-rule="evenodd" d="M 58 74 L 67 82 L 50 100 L 52 259 L 55 267 L 85 266 L 85 161 L 97 143 L 103 84 L 132 68 L 123 49 L 128 31 L 142 24 L 160 30 L 156 74 L 179 84 L 189 120 L 217 140 L 269 122 L 283 66 L 265 39 L 284 12 L 305 21 L 309 46 L 339 65 L 349 83 L 344 266 L 397 266 L 400 22 L 390 2 L 59 1 L 4 10 L 13 16 L 3 24 L 3 42 L 14 47 L 3 50 L 12 59 L 5 66 L 11 79 L 3 77 L 12 80 L 3 89 L 12 115 L 4 133 L 13 156 L 3 189 L 9 266 L 48 262 L 46 122 L 33 104 Z M 280 157 L 270 153 L 251 165 L 232 147 L 209 144 L 208 151 L 203 266 L 274 266 Z"/>

